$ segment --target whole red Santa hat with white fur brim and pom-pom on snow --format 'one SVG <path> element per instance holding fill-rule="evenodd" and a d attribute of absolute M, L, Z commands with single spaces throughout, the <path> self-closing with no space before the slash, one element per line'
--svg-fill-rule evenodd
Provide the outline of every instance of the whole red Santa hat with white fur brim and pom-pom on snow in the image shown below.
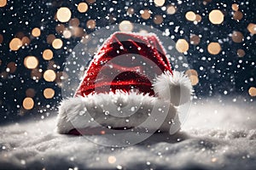
<path fill-rule="evenodd" d="M 155 34 L 116 32 L 91 60 L 74 97 L 61 102 L 57 131 L 80 134 L 92 129 L 92 122 L 114 129 L 137 127 L 153 107 L 166 105 L 160 130 L 174 125 L 177 130 L 176 106 L 188 102 L 191 92 L 189 78 L 172 71 Z"/>

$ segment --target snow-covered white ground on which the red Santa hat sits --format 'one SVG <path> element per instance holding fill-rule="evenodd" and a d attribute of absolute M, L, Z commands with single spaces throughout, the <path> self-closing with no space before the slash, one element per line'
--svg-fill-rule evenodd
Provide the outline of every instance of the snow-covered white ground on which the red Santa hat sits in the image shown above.
<path fill-rule="evenodd" d="M 225 103 L 225 105 L 223 105 Z M 126 148 L 54 133 L 55 117 L 1 127 L 0 169 L 256 169 L 256 105 L 192 105 L 183 131 Z"/>

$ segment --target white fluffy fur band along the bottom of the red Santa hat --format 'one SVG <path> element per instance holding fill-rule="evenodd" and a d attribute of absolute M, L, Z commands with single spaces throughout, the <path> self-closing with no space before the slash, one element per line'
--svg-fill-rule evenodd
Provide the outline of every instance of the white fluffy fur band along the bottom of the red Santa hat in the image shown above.
<path fill-rule="evenodd" d="M 175 124 L 177 130 L 180 128 L 177 110 L 170 101 L 148 96 L 148 94 L 116 92 L 115 94 L 90 94 L 86 97 L 63 100 L 57 118 L 57 132 L 68 133 L 73 128 L 93 127 L 95 124 L 92 122 L 111 127 L 137 127 L 148 118 L 148 113 L 151 112 L 152 115 L 153 108 L 156 108 L 154 110 L 157 112 L 156 118 L 160 118 L 163 112 L 168 111 L 160 130 L 169 132 L 172 124 Z M 135 113 L 134 110 L 136 110 Z M 106 114 L 106 111 L 109 114 Z M 111 114 L 121 117 L 111 116 Z"/>

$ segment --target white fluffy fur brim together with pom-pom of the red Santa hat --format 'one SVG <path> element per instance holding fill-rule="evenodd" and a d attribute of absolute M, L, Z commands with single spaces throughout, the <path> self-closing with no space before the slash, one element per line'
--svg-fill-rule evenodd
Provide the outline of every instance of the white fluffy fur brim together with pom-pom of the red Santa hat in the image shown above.
<path fill-rule="evenodd" d="M 159 87 L 163 87 L 162 85 L 164 88 Z M 162 90 L 165 88 L 169 92 L 164 93 Z M 177 93 L 181 89 L 183 93 Z M 64 99 L 59 107 L 56 130 L 58 133 L 70 133 L 74 129 L 133 128 L 146 125 L 148 130 L 158 130 L 155 127 L 159 127 L 161 131 L 170 132 L 171 126 L 175 125 L 172 132 L 177 132 L 180 122 L 175 105 L 177 100 L 182 100 L 181 104 L 189 101 L 192 91 L 189 78 L 181 72 L 175 71 L 173 75 L 165 72 L 156 79 L 154 90 L 157 92 L 156 97 L 118 90 L 115 93 Z M 166 94 L 170 94 L 171 99 L 166 99 Z M 158 122 L 145 124 L 151 115 L 156 116 Z M 161 121 L 163 115 L 165 120 Z"/>

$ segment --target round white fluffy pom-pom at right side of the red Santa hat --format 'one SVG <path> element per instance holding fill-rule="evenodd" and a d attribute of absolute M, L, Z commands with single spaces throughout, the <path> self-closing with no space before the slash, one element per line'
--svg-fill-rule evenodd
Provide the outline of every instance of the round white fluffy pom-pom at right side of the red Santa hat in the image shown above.
<path fill-rule="evenodd" d="M 192 85 L 183 72 L 166 71 L 156 78 L 154 93 L 160 99 L 169 99 L 173 105 L 183 105 L 190 100 Z"/>

